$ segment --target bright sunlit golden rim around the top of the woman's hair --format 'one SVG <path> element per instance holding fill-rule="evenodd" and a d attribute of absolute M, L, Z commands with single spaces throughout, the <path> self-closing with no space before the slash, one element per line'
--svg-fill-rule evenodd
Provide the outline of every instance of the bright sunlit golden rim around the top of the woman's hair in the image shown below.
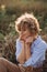
<path fill-rule="evenodd" d="M 15 21 L 15 30 L 16 30 L 17 32 L 20 32 L 20 31 L 17 30 L 17 25 L 21 24 L 21 21 L 25 20 L 26 18 L 27 18 L 27 19 L 32 19 L 32 20 L 35 22 L 34 25 L 36 25 L 36 28 L 37 28 L 38 31 L 40 31 L 40 29 L 39 29 L 39 23 L 38 23 L 37 19 L 34 17 L 34 14 L 33 14 L 33 13 L 27 13 L 27 12 L 25 12 L 25 13 L 22 14 L 20 18 L 17 18 L 16 21 Z M 31 21 L 32 21 L 32 20 L 31 20 Z"/>

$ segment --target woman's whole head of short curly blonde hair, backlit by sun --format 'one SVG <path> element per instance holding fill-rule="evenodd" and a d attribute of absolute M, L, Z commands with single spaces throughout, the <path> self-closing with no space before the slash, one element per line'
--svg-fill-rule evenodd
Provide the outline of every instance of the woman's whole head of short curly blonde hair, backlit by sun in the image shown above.
<path fill-rule="evenodd" d="M 38 33 L 40 31 L 39 23 L 33 13 L 24 13 L 15 21 L 15 30 L 17 32 L 21 32 L 22 30 L 25 31 L 26 29 L 33 33 Z"/>

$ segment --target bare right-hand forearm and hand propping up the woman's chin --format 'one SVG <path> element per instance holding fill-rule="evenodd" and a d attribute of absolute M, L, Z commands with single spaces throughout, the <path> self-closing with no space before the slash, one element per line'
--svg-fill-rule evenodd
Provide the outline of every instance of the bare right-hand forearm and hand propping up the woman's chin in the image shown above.
<path fill-rule="evenodd" d="M 31 45 L 33 42 L 33 38 L 32 37 L 27 37 L 25 39 L 25 54 L 26 54 L 26 61 L 32 56 L 32 52 L 31 52 Z"/>

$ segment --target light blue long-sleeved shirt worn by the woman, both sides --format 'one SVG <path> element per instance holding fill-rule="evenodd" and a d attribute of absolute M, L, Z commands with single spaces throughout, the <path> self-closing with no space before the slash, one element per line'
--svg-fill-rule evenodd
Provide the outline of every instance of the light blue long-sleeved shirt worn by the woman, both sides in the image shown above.
<path fill-rule="evenodd" d="M 31 52 L 32 56 L 23 64 L 23 66 L 34 66 L 38 68 L 43 64 L 43 61 L 45 60 L 45 52 L 47 49 L 47 43 L 38 35 L 38 38 L 32 43 L 31 45 Z M 16 40 L 16 60 L 17 56 L 20 55 L 22 50 L 22 43 L 17 39 Z"/>

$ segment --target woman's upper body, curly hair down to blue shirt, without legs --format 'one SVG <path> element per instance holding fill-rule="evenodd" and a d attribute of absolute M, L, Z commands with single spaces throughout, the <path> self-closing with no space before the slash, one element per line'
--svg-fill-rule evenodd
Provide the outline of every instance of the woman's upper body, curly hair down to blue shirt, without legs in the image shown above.
<path fill-rule="evenodd" d="M 24 66 L 40 66 L 45 60 L 47 43 L 38 35 L 40 29 L 37 19 L 33 14 L 25 13 L 15 23 L 20 34 L 16 40 L 16 60 Z"/>

